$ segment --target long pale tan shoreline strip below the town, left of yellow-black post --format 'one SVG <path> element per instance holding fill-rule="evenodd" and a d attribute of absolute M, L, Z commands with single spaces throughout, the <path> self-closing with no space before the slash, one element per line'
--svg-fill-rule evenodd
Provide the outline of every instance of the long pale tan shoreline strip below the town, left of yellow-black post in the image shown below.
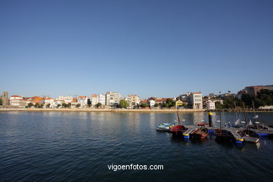
<path fill-rule="evenodd" d="M 3 111 L 22 111 L 22 112 L 139 112 L 139 113 L 175 113 L 177 109 L 20 109 L 20 108 L 1 108 Z M 179 109 L 179 112 L 204 112 L 206 109 Z"/>

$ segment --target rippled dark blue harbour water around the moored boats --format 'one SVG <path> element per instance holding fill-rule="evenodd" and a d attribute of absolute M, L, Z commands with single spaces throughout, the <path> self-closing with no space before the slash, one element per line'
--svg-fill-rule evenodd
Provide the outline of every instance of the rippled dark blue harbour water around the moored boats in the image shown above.
<path fill-rule="evenodd" d="M 259 114 L 273 125 L 273 113 Z M 185 125 L 208 118 L 180 117 Z M 236 146 L 155 132 L 174 120 L 176 113 L 1 112 L 0 181 L 272 181 L 272 139 Z M 235 113 L 223 120 L 233 123 Z M 114 172 L 112 164 L 164 169 Z"/>

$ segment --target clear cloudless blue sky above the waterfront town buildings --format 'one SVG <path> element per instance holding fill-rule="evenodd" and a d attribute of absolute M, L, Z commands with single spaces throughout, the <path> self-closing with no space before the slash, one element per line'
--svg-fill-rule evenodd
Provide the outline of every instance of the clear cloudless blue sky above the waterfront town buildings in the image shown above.
<path fill-rule="evenodd" d="M 177 97 L 273 85 L 273 1 L 0 0 L 0 91 Z"/>

